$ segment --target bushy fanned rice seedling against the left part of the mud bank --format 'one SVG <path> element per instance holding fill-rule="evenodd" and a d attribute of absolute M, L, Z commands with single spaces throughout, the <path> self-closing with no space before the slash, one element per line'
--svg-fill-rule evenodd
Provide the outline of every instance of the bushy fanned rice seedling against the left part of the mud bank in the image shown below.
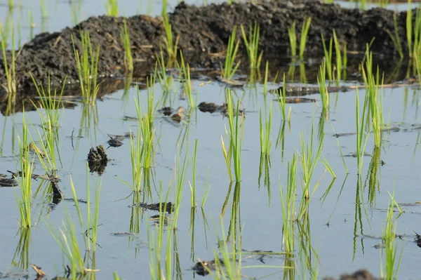
<path fill-rule="evenodd" d="M 96 96 L 100 89 L 99 84 L 97 83 L 100 46 L 98 45 L 96 51 L 93 50 L 91 37 L 87 31 L 81 31 L 80 37 L 81 53 L 76 49 L 74 37 L 72 36 L 74 59 L 76 60 L 76 69 L 79 76 L 83 102 L 93 105 L 95 104 Z"/>

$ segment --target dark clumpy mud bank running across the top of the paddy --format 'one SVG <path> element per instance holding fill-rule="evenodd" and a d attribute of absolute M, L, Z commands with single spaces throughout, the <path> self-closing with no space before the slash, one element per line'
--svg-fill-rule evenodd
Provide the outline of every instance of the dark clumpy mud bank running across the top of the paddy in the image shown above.
<path fill-rule="evenodd" d="M 387 61 L 396 56 L 392 40 L 387 29 L 393 30 L 393 11 L 375 8 L 370 11 L 340 8 L 334 4 L 321 4 L 318 1 L 260 1 L 253 3 L 234 3 L 229 5 L 212 4 L 209 6 L 189 6 L 179 4 L 169 14 L 173 27 L 173 36 L 180 36 L 179 48 L 187 61 L 195 67 L 219 68 L 222 55 L 234 25 L 244 25 L 246 29 L 254 22 L 260 25 L 260 48 L 266 57 L 283 58 L 289 55 L 290 44 L 287 27 L 297 22 L 297 37 L 300 38 L 302 22 L 312 17 L 311 28 L 307 38 L 306 59 L 321 56 L 323 49 L 320 34 L 330 39 L 335 29 L 340 41 L 347 41 L 349 52 L 362 54 L 366 43 L 373 37 L 375 41 L 371 50 L 387 56 Z M 415 17 L 413 17 L 415 18 Z M 123 76 L 124 49 L 120 33 L 124 18 L 107 16 L 92 17 L 74 28 L 61 32 L 42 33 L 25 44 L 16 59 L 16 76 L 18 96 L 22 93 L 33 93 L 32 79 L 46 84 L 48 73 L 54 86 L 59 86 L 67 76 L 69 83 L 76 83 L 77 73 L 74 62 L 71 37 L 74 36 L 76 48 L 81 48 L 79 30 L 91 34 L 93 46 L 100 46 L 99 73 L 102 79 Z M 406 48 L 406 12 L 397 15 L 399 34 L 403 50 Z M 415 19 L 414 19 L 415 20 Z M 132 42 L 132 54 L 135 61 L 134 76 L 145 76 L 152 72 L 156 53 L 163 42 L 165 32 L 161 18 L 147 15 L 136 15 L 127 18 L 128 30 Z M 237 32 L 240 39 L 241 32 Z M 240 44 L 241 55 L 246 54 Z M 11 54 L 8 53 L 8 61 Z M 242 64 L 246 64 L 244 58 Z M 0 58 L 0 83 L 5 85 L 4 62 Z M 1 88 L 4 97 L 6 91 Z M 102 86 L 101 91 L 107 91 Z M 75 91 L 71 93 L 74 95 Z"/>

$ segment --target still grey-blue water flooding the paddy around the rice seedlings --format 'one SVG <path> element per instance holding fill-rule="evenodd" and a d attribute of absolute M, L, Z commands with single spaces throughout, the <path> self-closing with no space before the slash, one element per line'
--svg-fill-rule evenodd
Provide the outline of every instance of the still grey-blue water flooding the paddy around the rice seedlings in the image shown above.
<path fill-rule="evenodd" d="M 53 1 L 51 1 L 53 2 Z M 65 21 L 60 13 L 53 13 L 55 7 L 64 4 L 58 2 L 56 6 L 48 3 L 50 22 L 56 18 Z M 89 4 L 85 4 L 88 6 Z M 127 8 L 131 4 L 121 4 Z M 91 6 L 90 6 L 91 7 Z M 103 6 L 102 6 L 103 7 Z M 86 14 L 91 15 L 98 10 L 96 6 L 87 8 Z M 6 9 L 6 8 L 5 8 Z M 59 9 L 59 8 L 57 8 Z M 5 10 L 6 11 L 6 10 Z M 35 15 L 36 8 L 34 8 Z M 102 12 L 105 11 L 102 8 Z M 67 15 L 68 11 L 62 14 Z M 67 18 L 71 25 L 71 18 Z M 51 25 L 56 30 L 56 25 Z M 54 26 L 54 27 L 53 27 Z M 64 27 L 64 26 L 63 26 Z M 57 29 L 60 29 L 58 27 Z M 403 71 L 403 70 L 402 70 Z M 215 102 L 222 105 L 225 102 L 225 86 L 210 81 L 206 76 L 194 80 L 194 97 L 197 104 L 202 101 Z M 210 81 L 210 82 L 209 82 Z M 292 84 L 292 83 L 291 83 Z M 347 84 L 359 84 L 359 81 L 347 81 Z M 276 88 L 277 84 L 269 84 L 269 88 Z M 161 98 L 162 89 L 155 84 L 154 100 Z M 149 88 L 149 91 L 152 91 Z M 179 106 L 188 107 L 186 100 L 180 100 L 180 84 L 173 84 L 170 98 L 166 106 L 174 109 Z M 382 228 L 385 227 L 386 210 L 390 203 L 389 193 L 394 191 L 405 213 L 397 220 L 398 248 L 403 248 L 399 279 L 414 279 L 417 277 L 417 265 L 420 258 L 420 248 L 415 242 L 415 233 L 420 233 L 419 219 L 421 204 L 420 196 L 420 160 L 419 142 L 421 121 L 419 116 L 420 90 L 415 87 L 384 88 L 383 112 L 385 120 L 392 128 L 392 132 L 383 133 L 382 148 L 377 150 L 378 156 L 364 157 L 363 171 L 359 178 L 356 173 L 356 159 L 345 156 L 345 163 L 349 174 L 342 163 L 337 138 L 334 133 L 354 133 L 356 91 L 346 93 L 331 93 L 328 114 L 321 116 L 319 95 L 309 95 L 316 103 L 302 103 L 286 105 L 291 108 L 290 123 L 281 121 L 278 102 L 274 101 L 274 115 L 272 121 L 272 152 L 269 168 L 261 166 L 259 139 L 259 110 L 270 100 L 276 100 L 275 95 L 268 94 L 265 98 L 263 86 L 255 88 L 248 86 L 233 90 L 234 101 L 241 100 L 241 108 L 246 110 L 243 124 L 243 152 L 241 161 L 241 184 L 237 189 L 230 185 L 224 157 L 222 156 L 221 135 L 227 141 L 225 131 L 228 127 L 227 118 L 215 112 L 213 114 L 193 109 L 189 116 L 180 124 L 174 123 L 168 117 L 155 113 L 154 128 L 159 138 L 156 150 L 156 166 L 152 169 L 148 198 L 147 192 L 140 193 L 140 199 L 147 203 L 159 202 L 159 195 L 166 194 L 171 184 L 169 200 L 174 201 L 174 173 L 175 159 L 178 151 L 182 160 L 192 159 L 194 143 L 197 140 L 196 165 L 196 199 L 198 207 L 192 211 L 190 204 L 189 181 L 192 182 L 192 164 L 187 169 L 186 181 L 182 191 L 178 229 L 171 239 L 171 276 L 173 278 L 193 279 L 198 275 L 192 267 L 198 259 L 212 260 L 218 251 L 218 236 L 233 234 L 228 232 L 229 224 L 236 222 L 236 231 L 241 231 L 241 247 L 246 251 L 274 251 L 280 253 L 282 247 L 282 214 L 279 184 L 286 185 L 287 163 L 293 153 L 300 150 L 300 133 L 309 141 L 311 128 L 314 127 L 314 141 L 318 141 L 320 130 L 326 133 L 323 143 L 323 156 L 335 171 L 336 179 L 319 162 L 314 171 L 312 189 L 319 180 L 319 188 L 314 192 L 310 201 L 308 222 L 309 227 L 296 227 L 296 255 L 295 276 L 292 279 L 304 279 L 311 269 L 318 269 L 319 276 L 338 276 L 342 272 L 353 272 L 356 269 L 367 268 L 376 276 L 380 276 L 380 249 L 374 246 L 381 243 Z M 365 91 L 359 90 L 362 105 Z M 91 147 L 105 145 L 109 134 L 122 135 L 136 130 L 136 121 L 125 120 L 125 116 L 135 116 L 134 99 L 138 95 L 135 86 L 128 91 L 117 91 L 98 100 L 95 107 L 78 105 L 74 109 L 65 109 L 60 113 L 61 127 L 58 149 L 58 175 L 60 187 L 67 197 L 72 196 L 70 178 L 74 182 L 76 192 L 81 199 L 86 199 L 86 158 Z M 145 111 L 147 90 L 140 90 L 140 104 Z M 160 105 L 159 107 L 163 107 Z M 159 108 L 158 108 L 159 109 Z M 33 128 L 39 128 L 38 112 L 27 112 L 27 120 Z M 18 161 L 18 135 L 22 133 L 22 113 L 13 116 L 0 117 L 2 127 L 0 173 L 7 170 L 16 171 Z M 38 136 L 32 132 L 32 137 Z M 356 136 L 343 135 L 338 138 L 342 154 L 349 155 L 356 152 Z M 188 152 L 187 152 L 188 147 Z M 375 153 L 373 135 L 369 136 L 366 145 L 368 154 Z M 131 208 L 133 194 L 131 189 L 121 181 L 131 182 L 130 140 L 123 140 L 121 147 L 109 147 L 107 154 L 109 161 L 105 173 L 99 176 L 89 173 L 88 180 L 91 190 L 95 183 L 101 186 L 101 202 L 99 212 L 98 246 L 95 259 L 87 262 L 95 268 L 98 279 L 112 279 L 114 271 L 123 279 L 148 279 L 149 244 L 147 232 L 154 232 L 155 211 L 143 208 Z M 44 173 L 38 161 L 34 173 Z M 299 168 L 300 174 L 300 168 Z M 301 174 L 298 176 L 301 178 Z M 301 180 L 301 179 L 300 179 Z M 210 191 L 206 204 L 201 209 L 201 200 L 208 182 Z M 160 192 L 162 185 L 163 192 Z M 18 206 L 15 196 L 19 196 L 20 189 L 0 187 L 0 209 L 2 220 L 0 227 L 1 254 L 0 272 L 6 279 L 35 277 L 29 263 L 34 263 L 48 273 L 48 279 L 55 275 L 63 276 L 62 251 L 48 231 L 45 222 L 59 227 L 65 218 L 66 211 L 77 223 L 77 213 L 72 201 L 62 201 L 57 206 L 51 205 L 51 196 L 46 194 L 46 183 L 41 180 L 33 182 L 34 203 L 32 219 L 34 227 L 29 231 L 20 231 Z M 39 187 L 39 192 L 36 189 Z M 233 204 L 234 190 L 240 191 L 240 204 Z M 298 187 L 297 204 L 300 202 L 300 187 Z M 408 205 L 406 205 L 408 204 Z M 410 204 L 413 204 L 410 206 Z M 86 204 L 81 204 L 86 213 Z M 233 210 L 236 208 L 236 211 Z M 232 213 L 236 213 L 232 218 Z M 220 227 L 222 214 L 223 227 Z M 395 213 L 395 217 L 397 213 Z M 79 227 L 77 227 L 79 229 Z M 79 229 L 79 244 L 83 247 L 83 233 Z M 116 233 L 132 234 L 120 234 Z M 121 236 L 122 235 L 122 236 Z M 304 239 L 304 249 L 300 250 L 300 236 L 310 236 Z M 164 234 L 166 236 L 166 234 Z M 164 249 L 165 251 L 165 245 Z M 307 253 L 307 257 L 306 257 Z M 243 266 L 267 265 L 281 267 L 290 265 L 283 255 L 261 255 L 246 258 L 243 255 Z M 241 274 L 250 277 L 268 276 L 269 279 L 279 279 L 290 275 L 290 270 L 269 267 L 243 268 Z M 91 275 L 91 274 L 88 274 Z M 207 276 L 210 278 L 211 276 Z"/>

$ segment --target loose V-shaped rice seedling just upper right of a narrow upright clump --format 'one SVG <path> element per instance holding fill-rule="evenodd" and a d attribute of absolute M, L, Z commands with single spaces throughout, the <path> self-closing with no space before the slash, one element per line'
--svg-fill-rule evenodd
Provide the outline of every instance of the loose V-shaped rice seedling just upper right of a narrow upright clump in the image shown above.
<path fill-rule="evenodd" d="M 300 204 L 300 211 L 298 215 L 298 220 L 307 211 L 309 199 L 319 187 L 319 182 L 314 186 L 312 192 L 310 193 L 310 182 L 312 180 L 314 168 L 316 168 L 317 161 L 319 161 L 321 147 L 323 147 L 324 133 L 319 138 L 319 145 L 317 147 L 316 153 L 313 152 L 314 143 L 313 143 L 313 125 L 312 130 L 309 135 L 309 142 L 305 142 L 305 137 L 303 133 L 300 133 L 300 143 L 301 143 L 301 154 L 299 155 L 301 165 L 302 165 L 302 199 Z"/>

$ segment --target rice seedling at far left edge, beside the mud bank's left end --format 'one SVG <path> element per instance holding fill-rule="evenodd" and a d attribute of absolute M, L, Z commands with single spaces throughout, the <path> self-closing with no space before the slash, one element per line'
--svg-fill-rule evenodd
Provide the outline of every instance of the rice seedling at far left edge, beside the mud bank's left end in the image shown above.
<path fill-rule="evenodd" d="M 0 35 L 1 35 L 1 51 L 3 53 L 3 63 L 4 63 L 4 74 L 6 75 L 7 81 L 7 94 L 8 100 L 11 104 L 15 104 L 15 97 L 16 97 L 16 67 L 15 67 L 15 27 L 13 22 L 11 22 L 11 36 L 12 36 L 12 46 L 11 46 L 11 61 L 10 65 L 8 65 L 8 59 L 6 57 L 6 44 L 8 40 L 8 27 L 6 26 L 5 29 L 0 28 Z"/>

